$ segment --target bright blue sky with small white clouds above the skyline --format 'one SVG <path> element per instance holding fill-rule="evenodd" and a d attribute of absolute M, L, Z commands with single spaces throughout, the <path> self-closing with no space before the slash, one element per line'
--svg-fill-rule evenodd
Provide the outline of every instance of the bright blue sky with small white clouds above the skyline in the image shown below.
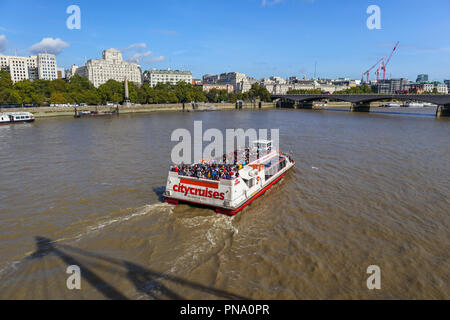
<path fill-rule="evenodd" d="M 373 4 L 381 30 L 366 26 Z M 80 30 L 66 27 L 70 5 L 81 9 Z M 317 61 L 319 77 L 360 79 L 400 41 L 388 75 L 450 78 L 449 0 L 0 0 L 0 16 L 3 54 L 55 50 L 65 68 L 128 48 L 124 57 L 143 69 L 188 69 L 196 77 L 312 77 Z"/>

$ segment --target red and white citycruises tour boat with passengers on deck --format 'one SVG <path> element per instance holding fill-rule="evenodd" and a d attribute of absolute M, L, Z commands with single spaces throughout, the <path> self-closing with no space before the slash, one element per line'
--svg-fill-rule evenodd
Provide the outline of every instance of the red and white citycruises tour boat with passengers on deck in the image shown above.
<path fill-rule="evenodd" d="M 255 141 L 251 148 L 245 150 L 249 161 L 239 164 L 233 159 L 239 170 L 232 178 L 198 178 L 171 169 L 164 193 L 165 201 L 175 205 L 181 202 L 211 207 L 217 213 L 234 216 L 280 181 L 295 164 L 290 155 L 275 150 L 269 140 Z M 208 166 L 211 160 L 198 165 L 205 163 Z"/>

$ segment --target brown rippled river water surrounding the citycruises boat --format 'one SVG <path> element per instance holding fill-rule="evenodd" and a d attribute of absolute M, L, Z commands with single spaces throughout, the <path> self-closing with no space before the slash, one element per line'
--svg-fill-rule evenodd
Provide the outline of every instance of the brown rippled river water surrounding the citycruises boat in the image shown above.
<path fill-rule="evenodd" d="M 450 121 L 408 112 L 2 126 L 0 299 L 449 299 Z M 233 218 L 165 204 L 170 135 L 194 120 L 279 128 L 296 166 Z M 66 287 L 69 265 L 81 290 Z"/>

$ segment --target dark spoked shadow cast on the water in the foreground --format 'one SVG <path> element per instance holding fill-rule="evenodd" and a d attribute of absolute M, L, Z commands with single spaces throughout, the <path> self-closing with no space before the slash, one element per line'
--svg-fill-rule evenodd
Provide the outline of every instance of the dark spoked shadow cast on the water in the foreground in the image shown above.
<path fill-rule="evenodd" d="M 109 264 L 110 267 L 103 267 L 106 271 L 114 275 L 126 277 L 137 292 L 145 294 L 149 299 L 184 299 L 178 293 L 165 286 L 162 283 L 162 281 L 165 281 L 167 283 L 212 295 L 218 299 L 247 300 L 245 297 L 224 290 L 210 288 L 180 277 L 156 272 L 130 261 L 111 258 L 68 245 L 59 244 L 48 238 L 37 236 L 35 241 L 36 251 L 28 256 L 27 259 L 43 260 L 47 256 L 52 255 L 60 258 L 67 266 L 76 265 L 80 267 L 82 279 L 87 281 L 107 299 L 127 300 L 128 298 L 124 293 L 120 292 L 119 289 L 115 288 L 112 283 L 108 283 L 107 280 L 91 270 L 88 265 L 95 264 L 98 269 L 100 268 L 100 265 Z"/>

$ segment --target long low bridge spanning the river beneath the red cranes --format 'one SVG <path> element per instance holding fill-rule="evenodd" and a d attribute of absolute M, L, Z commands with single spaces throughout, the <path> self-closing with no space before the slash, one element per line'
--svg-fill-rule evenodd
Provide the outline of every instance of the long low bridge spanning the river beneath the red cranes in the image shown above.
<path fill-rule="evenodd" d="M 450 116 L 450 95 L 441 94 L 284 94 L 272 95 L 272 100 L 279 100 L 278 107 L 312 109 L 313 101 L 335 100 L 350 102 L 352 112 L 369 112 L 370 103 L 383 100 L 412 100 L 429 102 L 437 105 L 437 117 Z"/>

